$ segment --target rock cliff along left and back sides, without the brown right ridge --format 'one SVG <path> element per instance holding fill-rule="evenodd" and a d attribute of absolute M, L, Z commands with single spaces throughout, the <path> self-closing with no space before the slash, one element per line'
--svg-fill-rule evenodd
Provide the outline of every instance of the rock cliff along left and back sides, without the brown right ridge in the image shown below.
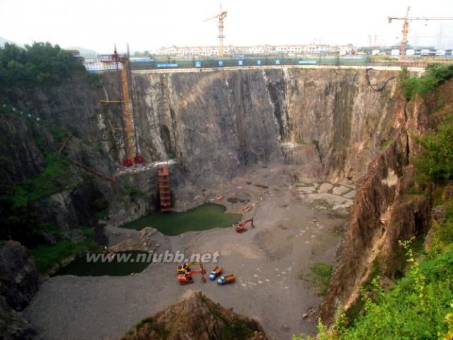
<path fill-rule="evenodd" d="M 271 162 L 300 164 L 299 180 L 355 180 L 392 132 L 396 82 L 387 80 L 394 76 L 390 71 L 303 68 L 137 71 L 131 86 L 137 149 L 145 162 L 175 160 L 175 191 L 200 190 L 250 164 Z M 13 92 L 24 114 L 1 117 L 1 147 L 8 154 L 1 159 L 3 186 L 10 183 L 11 188 L 13 181 L 42 171 L 45 152 L 56 152 L 68 133 L 58 137 L 52 126 L 73 133 L 64 150 L 68 159 L 106 177 L 116 173 L 115 164 L 125 158 L 120 83 L 116 73 L 101 75 L 101 80 L 103 85 L 96 87 L 80 74 L 60 86 Z M 376 90 L 383 84 L 383 90 Z M 28 113 L 32 119 L 24 118 Z M 57 221 L 64 232 L 81 222 L 90 224 L 90 207 L 99 202 L 108 202 L 116 221 L 156 209 L 155 169 L 117 176 L 123 186 L 145 193 L 132 199 L 74 162 L 71 169 L 77 190 L 62 188 L 40 204 L 42 215 Z M 180 192 L 174 198 L 192 197 Z"/>

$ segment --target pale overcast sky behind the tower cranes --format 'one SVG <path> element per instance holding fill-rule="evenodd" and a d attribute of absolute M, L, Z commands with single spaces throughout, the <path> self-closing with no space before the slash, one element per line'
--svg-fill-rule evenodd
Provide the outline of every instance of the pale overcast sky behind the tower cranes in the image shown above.
<path fill-rule="evenodd" d="M 0 0 L 0 37 L 110 53 L 218 44 L 218 0 Z M 402 20 L 452 17 L 453 0 L 223 0 L 225 45 L 399 44 Z M 453 20 L 414 20 L 409 44 L 453 48 Z"/>

